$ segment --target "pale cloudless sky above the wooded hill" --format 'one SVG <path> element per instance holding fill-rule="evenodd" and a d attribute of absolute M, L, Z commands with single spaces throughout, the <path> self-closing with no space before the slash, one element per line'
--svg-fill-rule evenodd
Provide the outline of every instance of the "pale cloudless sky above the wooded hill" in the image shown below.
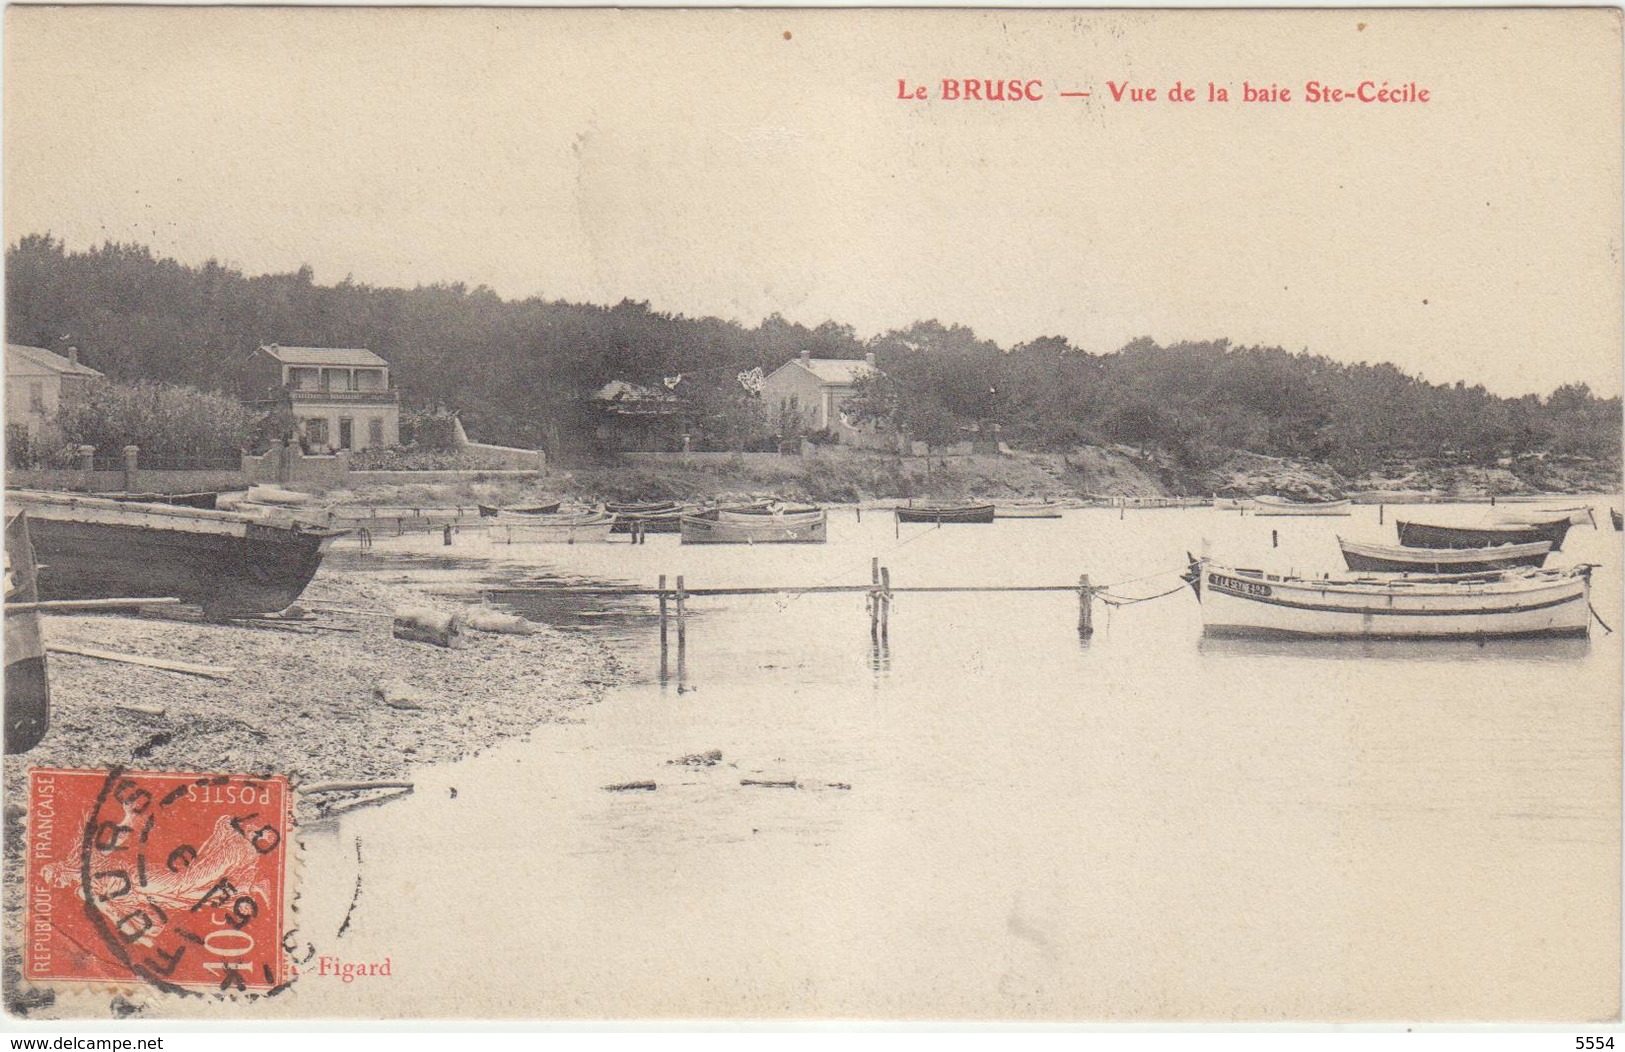
<path fill-rule="evenodd" d="M 1430 101 L 1300 101 L 1367 78 Z M 1164 101 L 1176 80 L 1199 101 Z M 11 7 L 5 236 L 1618 393 L 1620 89 L 1610 10 Z"/>

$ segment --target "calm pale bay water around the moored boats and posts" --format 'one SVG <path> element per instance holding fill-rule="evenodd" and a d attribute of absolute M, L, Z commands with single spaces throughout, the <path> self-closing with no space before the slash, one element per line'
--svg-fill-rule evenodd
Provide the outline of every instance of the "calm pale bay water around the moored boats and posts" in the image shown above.
<path fill-rule="evenodd" d="M 1599 564 L 1592 602 L 1618 628 L 1620 535 L 1597 509 L 1604 532 L 1576 527 L 1552 564 Z M 899 533 L 838 509 L 822 546 L 468 533 L 458 554 L 691 587 L 863 584 L 879 556 L 894 585 L 1089 572 L 1154 595 L 1204 540 L 1245 566 L 1337 569 L 1336 533 L 1391 543 L 1394 514 L 1072 511 Z M 1081 641 L 1072 593 L 905 593 L 879 649 L 861 595 L 707 597 L 679 683 L 674 633 L 658 675 L 653 600 L 510 605 L 601 633 L 639 676 L 578 722 L 307 829 L 301 938 L 388 956 L 392 976 L 306 976 L 266 1013 L 1617 1008 L 1620 636 L 1596 626 L 1589 642 L 1216 644 L 1181 589 L 1097 605 Z M 722 763 L 668 763 L 707 750 Z M 644 779 L 658 790 L 603 789 Z"/>

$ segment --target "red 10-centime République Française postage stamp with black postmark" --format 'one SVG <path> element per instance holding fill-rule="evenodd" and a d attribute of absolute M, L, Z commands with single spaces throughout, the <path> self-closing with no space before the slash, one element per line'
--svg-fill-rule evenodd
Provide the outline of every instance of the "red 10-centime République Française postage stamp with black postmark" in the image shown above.
<path fill-rule="evenodd" d="M 164 990 L 283 985 L 283 777 L 36 769 L 24 974 Z"/>

